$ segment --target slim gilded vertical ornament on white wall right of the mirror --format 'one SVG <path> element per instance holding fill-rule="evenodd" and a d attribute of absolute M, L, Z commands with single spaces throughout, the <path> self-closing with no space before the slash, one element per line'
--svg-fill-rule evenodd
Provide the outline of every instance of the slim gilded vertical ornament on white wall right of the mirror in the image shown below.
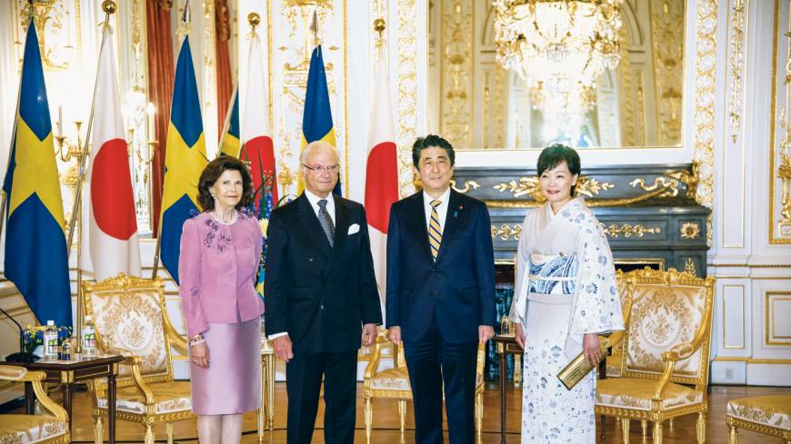
<path fill-rule="evenodd" d="M 745 67 L 745 10 L 749 10 L 749 0 L 732 0 L 730 26 L 730 42 L 728 42 L 728 122 L 730 123 L 731 140 L 736 143 L 742 124 L 742 73 Z"/>

